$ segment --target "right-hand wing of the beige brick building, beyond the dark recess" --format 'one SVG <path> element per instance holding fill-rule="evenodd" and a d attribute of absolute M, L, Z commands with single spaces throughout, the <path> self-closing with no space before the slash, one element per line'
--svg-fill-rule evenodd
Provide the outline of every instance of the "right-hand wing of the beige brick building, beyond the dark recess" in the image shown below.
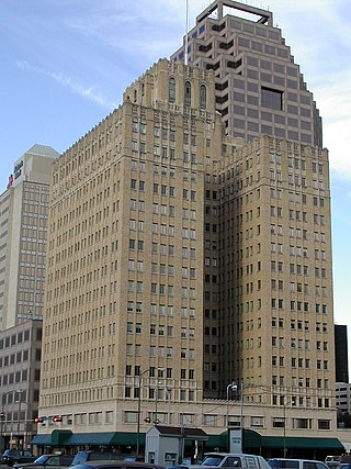
<path fill-rule="evenodd" d="M 271 387 L 274 405 L 331 407 L 328 153 L 264 136 L 240 152 L 227 144 L 223 156 L 214 171 L 224 332 L 219 387 L 239 377 L 248 389 Z"/>

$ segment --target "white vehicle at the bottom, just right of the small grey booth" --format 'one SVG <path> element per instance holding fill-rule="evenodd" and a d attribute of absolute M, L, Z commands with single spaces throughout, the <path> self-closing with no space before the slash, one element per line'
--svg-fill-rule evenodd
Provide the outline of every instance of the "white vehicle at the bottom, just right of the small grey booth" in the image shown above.
<path fill-rule="evenodd" d="M 200 465 L 179 465 L 176 469 L 205 469 L 205 468 L 257 468 L 271 469 L 262 456 L 247 455 L 242 453 L 205 453 L 204 459 Z"/>

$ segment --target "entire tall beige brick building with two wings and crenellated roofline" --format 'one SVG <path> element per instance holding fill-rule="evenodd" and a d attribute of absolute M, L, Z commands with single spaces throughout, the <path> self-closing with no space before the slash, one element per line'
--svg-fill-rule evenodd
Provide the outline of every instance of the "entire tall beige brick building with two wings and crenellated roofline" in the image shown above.
<path fill-rule="evenodd" d="M 42 444 L 135 450 L 154 421 L 341 448 L 327 150 L 226 135 L 215 88 L 160 60 L 53 165 Z"/>

